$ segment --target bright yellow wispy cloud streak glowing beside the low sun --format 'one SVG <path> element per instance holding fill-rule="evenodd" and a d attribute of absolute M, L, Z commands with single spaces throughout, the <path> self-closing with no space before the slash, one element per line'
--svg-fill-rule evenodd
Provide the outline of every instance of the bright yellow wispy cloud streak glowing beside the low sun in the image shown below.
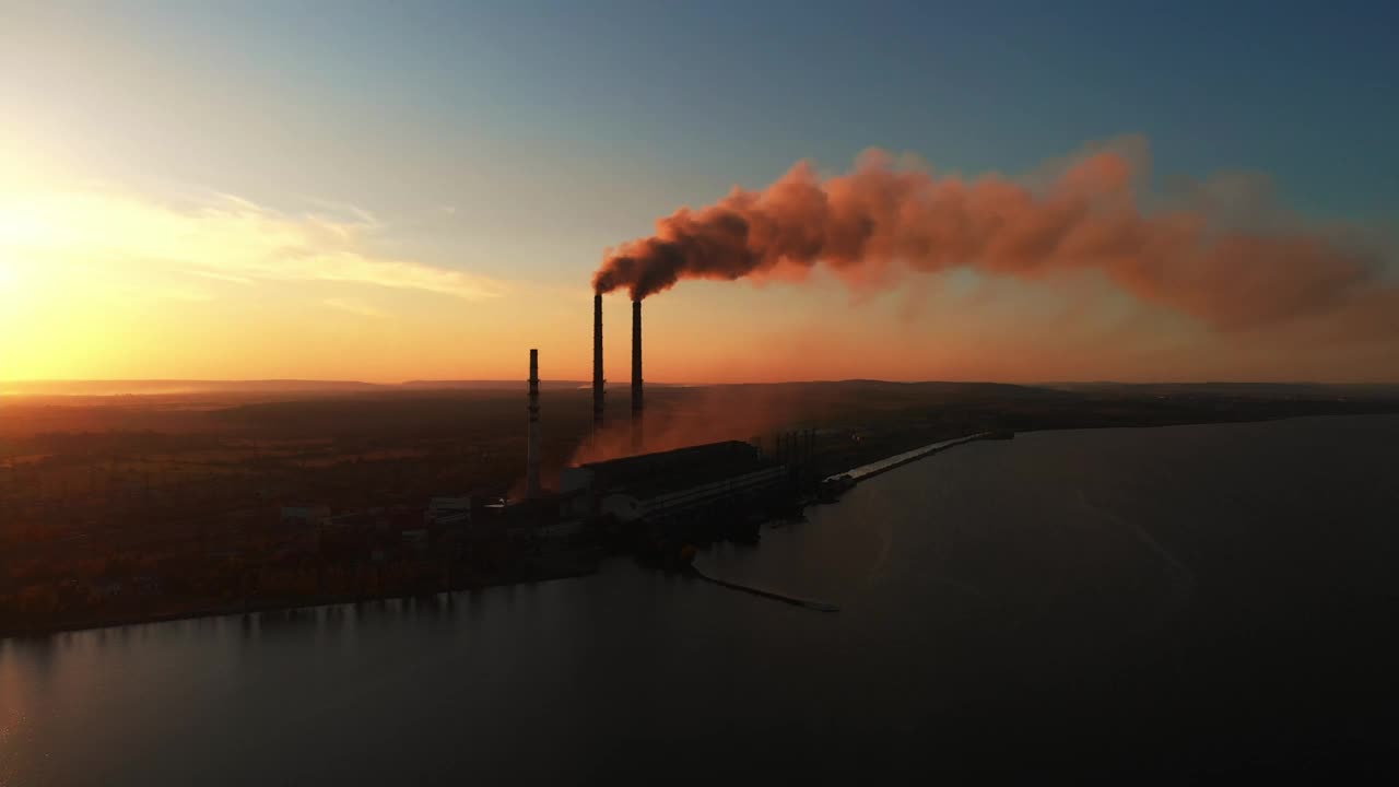
<path fill-rule="evenodd" d="M 379 225 L 360 214 L 287 214 L 229 195 L 182 206 L 105 190 L 24 195 L 0 202 L 0 253 L 133 273 L 183 270 L 239 284 L 336 281 L 463 300 L 505 291 L 498 280 L 381 253 L 374 244 Z"/>

